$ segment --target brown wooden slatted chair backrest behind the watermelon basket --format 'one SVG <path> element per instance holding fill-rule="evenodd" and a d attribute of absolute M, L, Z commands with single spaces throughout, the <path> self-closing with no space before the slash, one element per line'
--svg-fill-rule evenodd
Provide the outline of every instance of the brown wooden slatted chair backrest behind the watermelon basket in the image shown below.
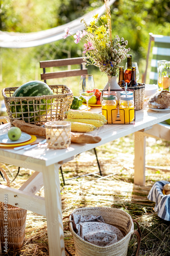
<path fill-rule="evenodd" d="M 84 62 L 83 57 L 40 61 L 40 68 L 43 68 L 43 73 L 41 73 L 41 80 L 44 80 L 46 83 L 47 79 L 86 75 L 87 68 L 83 68 L 84 65 L 82 65 L 82 62 Z M 63 67 L 77 64 L 80 65 L 80 69 L 69 69 L 56 72 L 45 71 L 45 68 L 49 67 Z"/>

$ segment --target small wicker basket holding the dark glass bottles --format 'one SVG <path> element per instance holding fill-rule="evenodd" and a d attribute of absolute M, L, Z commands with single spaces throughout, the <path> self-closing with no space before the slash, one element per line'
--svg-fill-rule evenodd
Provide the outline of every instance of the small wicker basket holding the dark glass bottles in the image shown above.
<path fill-rule="evenodd" d="M 145 101 L 145 83 L 138 83 L 138 85 L 136 87 L 127 87 L 129 90 L 135 91 L 135 111 L 142 109 Z"/>

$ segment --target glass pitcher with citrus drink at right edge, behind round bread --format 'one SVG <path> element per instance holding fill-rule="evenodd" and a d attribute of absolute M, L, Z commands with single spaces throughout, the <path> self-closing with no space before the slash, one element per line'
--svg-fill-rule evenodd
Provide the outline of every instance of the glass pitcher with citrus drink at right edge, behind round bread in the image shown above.
<path fill-rule="evenodd" d="M 158 86 L 161 90 L 170 89 L 170 61 L 158 60 Z"/>

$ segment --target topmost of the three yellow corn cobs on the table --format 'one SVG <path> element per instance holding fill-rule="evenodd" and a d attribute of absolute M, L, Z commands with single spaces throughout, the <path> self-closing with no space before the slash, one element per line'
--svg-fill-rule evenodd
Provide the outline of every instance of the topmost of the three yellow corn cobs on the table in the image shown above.
<path fill-rule="evenodd" d="M 95 119 L 103 121 L 103 123 L 107 123 L 107 120 L 104 115 L 90 112 L 90 111 L 80 111 L 80 110 L 68 110 L 67 111 L 67 118 L 70 119 Z"/>

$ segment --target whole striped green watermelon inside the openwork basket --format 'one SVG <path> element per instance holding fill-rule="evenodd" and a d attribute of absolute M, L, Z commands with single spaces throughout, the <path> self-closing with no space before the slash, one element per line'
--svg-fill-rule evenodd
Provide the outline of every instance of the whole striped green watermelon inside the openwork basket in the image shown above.
<path fill-rule="evenodd" d="M 12 97 L 34 97 L 34 96 L 42 96 L 42 95 L 53 95 L 53 91 L 49 88 L 49 86 L 42 82 L 42 81 L 30 81 L 27 83 L 22 84 L 20 87 L 17 88 L 17 90 L 12 94 Z M 41 100 L 42 105 L 39 108 L 39 105 L 35 105 L 35 111 L 37 111 L 37 113 L 35 115 L 45 115 L 46 114 L 46 100 L 42 99 Z M 43 105 L 44 103 L 44 105 Z M 54 103 L 54 99 L 52 99 L 52 103 Z M 12 116 L 14 118 L 16 118 L 16 114 L 15 114 L 15 106 L 14 101 L 12 101 L 11 103 L 11 112 L 13 113 Z M 28 103 L 27 101 L 23 100 L 22 101 L 22 111 L 21 111 L 21 104 L 20 102 L 16 102 L 16 104 L 18 104 L 16 106 L 16 110 L 17 112 L 22 112 L 23 116 L 24 116 L 24 121 L 28 122 L 29 118 L 28 117 Z M 25 104 L 25 105 L 24 105 Z M 40 104 L 40 101 L 37 101 L 37 104 Z M 51 100 L 47 100 L 47 109 L 51 108 Z M 12 106 L 13 105 L 13 106 Z M 40 111 L 41 110 L 41 111 Z M 34 108 L 33 108 L 33 101 L 29 101 L 29 112 L 33 112 Z M 49 110 L 50 111 L 50 110 Z M 49 113 L 49 111 L 47 111 L 47 113 Z M 30 113 L 29 116 L 34 116 L 34 113 Z M 22 114 L 17 114 L 17 118 L 21 118 L 22 119 Z M 37 120 L 39 120 L 39 118 L 36 118 Z M 34 121 L 34 117 L 30 118 L 30 122 Z M 36 121 L 36 120 L 35 120 Z"/>

